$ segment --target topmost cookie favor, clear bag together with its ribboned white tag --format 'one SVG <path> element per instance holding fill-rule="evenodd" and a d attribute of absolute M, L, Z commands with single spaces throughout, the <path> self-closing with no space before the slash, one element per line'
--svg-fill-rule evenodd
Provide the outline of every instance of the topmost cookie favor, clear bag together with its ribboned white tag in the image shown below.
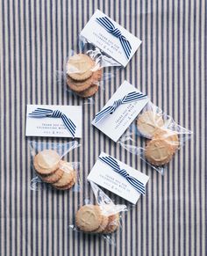
<path fill-rule="evenodd" d="M 96 94 L 100 82 L 111 77 L 105 68 L 125 67 L 141 41 L 96 10 L 79 37 L 79 53 L 70 51 L 64 77 L 70 91 L 82 98 Z"/>

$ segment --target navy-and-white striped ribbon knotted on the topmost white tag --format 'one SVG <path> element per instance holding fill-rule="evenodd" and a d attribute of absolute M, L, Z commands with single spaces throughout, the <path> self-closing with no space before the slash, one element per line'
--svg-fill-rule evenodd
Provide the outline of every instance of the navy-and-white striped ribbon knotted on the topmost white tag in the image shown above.
<path fill-rule="evenodd" d="M 102 18 L 96 18 L 97 22 L 103 26 L 109 33 L 112 35 L 118 37 L 120 40 L 120 43 L 122 45 L 122 48 L 124 48 L 125 55 L 127 59 L 129 59 L 131 55 L 132 46 L 130 42 L 125 38 L 125 36 L 120 32 L 118 28 L 116 28 L 111 20 L 108 17 L 102 17 Z"/>

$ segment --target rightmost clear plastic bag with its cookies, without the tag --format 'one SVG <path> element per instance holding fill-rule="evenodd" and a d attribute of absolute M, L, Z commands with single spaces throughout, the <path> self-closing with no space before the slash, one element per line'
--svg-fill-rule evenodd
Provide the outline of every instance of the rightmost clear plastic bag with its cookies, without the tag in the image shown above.
<path fill-rule="evenodd" d="M 149 102 L 118 143 L 164 174 L 165 166 L 191 135 L 189 129 L 177 124 L 171 116 Z M 140 136 L 146 138 L 145 147 L 139 144 Z"/>

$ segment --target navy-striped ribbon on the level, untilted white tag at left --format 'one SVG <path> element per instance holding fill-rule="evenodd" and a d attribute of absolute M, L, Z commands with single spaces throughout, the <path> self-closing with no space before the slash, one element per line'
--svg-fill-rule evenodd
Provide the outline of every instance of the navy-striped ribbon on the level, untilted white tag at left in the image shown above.
<path fill-rule="evenodd" d="M 29 113 L 29 116 L 38 117 L 38 118 L 44 118 L 44 117 L 61 118 L 61 120 L 63 121 L 64 125 L 66 126 L 68 131 L 71 133 L 73 138 L 75 137 L 75 128 L 76 128 L 75 123 L 71 119 L 69 119 L 65 113 L 61 113 L 60 110 L 52 110 L 52 109 L 38 107 L 32 113 Z"/>

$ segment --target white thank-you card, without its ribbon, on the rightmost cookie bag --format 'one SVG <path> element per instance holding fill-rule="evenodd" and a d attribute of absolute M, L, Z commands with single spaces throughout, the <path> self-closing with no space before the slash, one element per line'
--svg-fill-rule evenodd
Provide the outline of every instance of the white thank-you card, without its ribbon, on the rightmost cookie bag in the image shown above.
<path fill-rule="evenodd" d="M 106 105 L 103 106 L 103 109 L 108 106 L 112 106 L 114 101 L 122 99 L 125 97 L 125 95 L 132 91 L 140 92 L 132 84 L 125 81 L 112 95 L 111 99 L 106 103 Z M 109 113 L 108 115 L 104 116 L 102 120 L 97 122 L 96 119 L 94 119 L 92 124 L 101 130 L 103 134 L 109 136 L 114 142 L 117 142 L 120 136 L 124 134 L 126 128 L 131 125 L 132 121 L 138 116 L 143 107 L 146 106 L 148 101 L 149 99 L 146 97 L 130 103 L 121 104 L 114 113 Z"/>

